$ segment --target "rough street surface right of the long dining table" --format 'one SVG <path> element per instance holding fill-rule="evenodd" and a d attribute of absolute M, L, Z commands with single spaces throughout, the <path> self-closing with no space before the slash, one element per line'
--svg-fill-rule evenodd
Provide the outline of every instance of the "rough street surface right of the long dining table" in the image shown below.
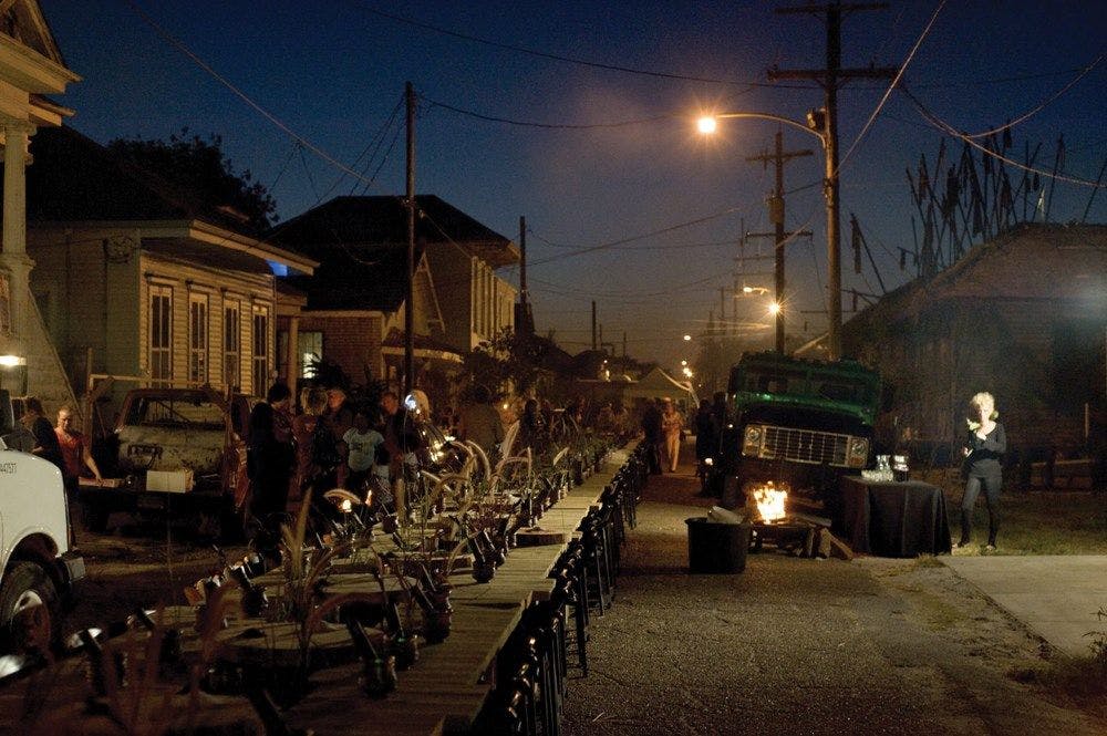
<path fill-rule="evenodd" d="M 687 573 L 690 467 L 653 476 L 613 607 L 593 616 L 567 734 L 1103 734 L 1010 673 L 1042 642 L 934 558 L 772 550 Z"/>

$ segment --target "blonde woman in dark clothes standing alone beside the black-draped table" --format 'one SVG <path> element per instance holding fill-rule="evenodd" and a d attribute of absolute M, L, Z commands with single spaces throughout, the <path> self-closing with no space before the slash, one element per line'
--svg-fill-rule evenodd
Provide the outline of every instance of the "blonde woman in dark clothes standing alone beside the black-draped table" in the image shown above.
<path fill-rule="evenodd" d="M 984 550 L 995 551 L 995 535 L 1000 529 L 1000 487 L 1003 484 L 1002 459 L 1007 452 L 1007 435 L 996 417 L 999 413 L 992 394 L 981 392 L 969 401 L 969 434 L 962 448 L 965 489 L 961 497 L 961 541 L 956 547 L 969 545 L 973 507 L 976 496 L 983 490 L 987 504 L 987 546 Z"/>

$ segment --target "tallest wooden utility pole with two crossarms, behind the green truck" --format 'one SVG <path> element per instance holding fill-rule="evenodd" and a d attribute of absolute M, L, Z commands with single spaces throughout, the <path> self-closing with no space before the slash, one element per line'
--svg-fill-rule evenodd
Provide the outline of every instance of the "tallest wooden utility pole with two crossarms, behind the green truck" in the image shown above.
<path fill-rule="evenodd" d="M 827 334 L 827 359 L 841 357 L 841 235 L 838 229 L 838 87 L 853 79 L 894 79 L 893 66 L 841 69 L 841 19 L 858 10 L 883 10 L 887 2 L 842 3 L 831 0 L 824 4 L 777 8 L 779 14 L 826 14 L 827 64 L 826 69 L 768 70 L 769 81 L 815 80 L 826 93 L 821 111 L 807 114 L 808 125 L 823 134 L 826 146 L 826 178 L 823 191 L 827 203 L 827 312 L 830 326 Z"/>

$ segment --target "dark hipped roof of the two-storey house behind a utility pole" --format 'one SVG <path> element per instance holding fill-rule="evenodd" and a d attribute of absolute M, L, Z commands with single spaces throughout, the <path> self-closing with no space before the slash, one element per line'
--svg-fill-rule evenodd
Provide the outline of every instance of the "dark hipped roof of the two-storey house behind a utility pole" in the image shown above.
<path fill-rule="evenodd" d="M 519 262 L 519 249 L 435 195 L 417 195 L 415 240 L 454 242 L 493 268 Z M 400 196 L 335 197 L 282 222 L 267 239 L 322 260 L 335 247 L 364 253 L 407 242 L 407 208 Z M 317 255 L 319 253 L 319 255 Z"/>

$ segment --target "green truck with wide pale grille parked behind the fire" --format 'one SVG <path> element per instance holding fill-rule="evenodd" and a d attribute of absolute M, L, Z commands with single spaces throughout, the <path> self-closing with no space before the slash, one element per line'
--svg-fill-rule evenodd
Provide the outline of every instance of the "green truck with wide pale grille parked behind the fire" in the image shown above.
<path fill-rule="evenodd" d="M 869 465 L 879 401 L 880 377 L 856 361 L 744 355 L 727 385 L 723 506 L 772 480 L 834 516 L 838 478 Z"/>

